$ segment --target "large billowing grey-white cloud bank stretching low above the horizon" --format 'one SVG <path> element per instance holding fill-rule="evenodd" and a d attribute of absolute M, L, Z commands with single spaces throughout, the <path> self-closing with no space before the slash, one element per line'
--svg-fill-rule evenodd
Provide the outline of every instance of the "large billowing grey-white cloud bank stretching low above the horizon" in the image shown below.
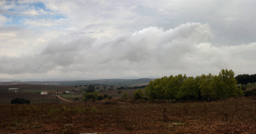
<path fill-rule="evenodd" d="M 148 27 L 111 40 L 62 36 L 37 54 L 1 56 L 1 74 L 38 76 L 54 72 L 56 76 L 117 78 L 217 74 L 222 68 L 255 70 L 256 43 L 214 46 L 205 42 L 213 37 L 207 23 L 185 23 L 168 30 Z"/>

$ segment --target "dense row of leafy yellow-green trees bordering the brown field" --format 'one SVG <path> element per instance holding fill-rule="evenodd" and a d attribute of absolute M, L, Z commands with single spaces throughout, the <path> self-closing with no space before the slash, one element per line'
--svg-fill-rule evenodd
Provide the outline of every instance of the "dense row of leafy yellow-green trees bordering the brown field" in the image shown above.
<path fill-rule="evenodd" d="M 236 86 L 236 79 L 232 70 L 222 69 L 218 75 L 201 74 L 201 76 L 187 77 L 186 74 L 170 75 L 156 78 L 144 88 L 150 100 L 189 100 L 228 98 L 241 96 L 243 90 Z"/>

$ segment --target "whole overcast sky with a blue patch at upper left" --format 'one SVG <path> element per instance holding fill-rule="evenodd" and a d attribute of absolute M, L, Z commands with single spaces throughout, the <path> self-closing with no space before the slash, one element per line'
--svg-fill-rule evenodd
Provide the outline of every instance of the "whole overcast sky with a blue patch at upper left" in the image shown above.
<path fill-rule="evenodd" d="M 0 78 L 256 74 L 254 0 L 0 0 Z"/>

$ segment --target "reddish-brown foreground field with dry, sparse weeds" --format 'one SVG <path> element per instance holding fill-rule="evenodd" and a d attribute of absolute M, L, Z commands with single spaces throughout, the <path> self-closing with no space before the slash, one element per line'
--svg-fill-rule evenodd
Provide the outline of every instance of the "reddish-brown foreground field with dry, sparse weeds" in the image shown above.
<path fill-rule="evenodd" d="M 0 133 L 256 133 L 255 106 L 249 98 L 212 103 L 0 105 Z"/>

